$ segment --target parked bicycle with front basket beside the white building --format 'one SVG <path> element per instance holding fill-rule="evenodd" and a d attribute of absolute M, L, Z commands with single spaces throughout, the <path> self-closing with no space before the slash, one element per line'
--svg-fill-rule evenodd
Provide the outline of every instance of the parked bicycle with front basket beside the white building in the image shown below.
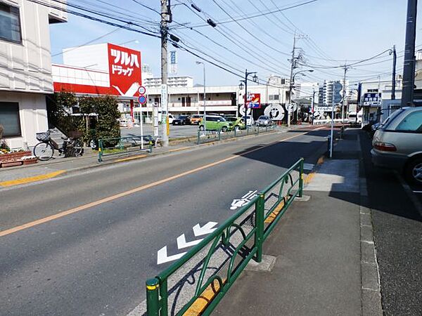
<path fill-rule="evenodd" d="M 65 157 L 78 157 L 84 153 L 84 146 L 82 141 L 76 135 L 72 138 L 62 137 L 63 144 L 58 147 L 58 144 L 51 139 L 50 131 L 45 133 L 37 133 L 37 140 L 40 143 L 34 147 L 34 156 L 39 160 L 45 162 L 53 157 L 54 150 L 58 150 L 59 155 L 64 154 Z"/>

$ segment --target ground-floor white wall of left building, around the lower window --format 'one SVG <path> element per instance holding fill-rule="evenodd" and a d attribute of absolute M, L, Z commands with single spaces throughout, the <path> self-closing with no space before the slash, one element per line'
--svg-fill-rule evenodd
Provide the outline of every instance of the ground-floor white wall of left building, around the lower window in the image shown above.
<path fill-rule="evenodd" d="M 11 148 L 24 148 L 38 143 L 35 133 L 47 131 L 46 96 L 39 93 L 1 92 L 0 102 L 19 103 L 20 131 L 22 136 L 6 138 Z"/>

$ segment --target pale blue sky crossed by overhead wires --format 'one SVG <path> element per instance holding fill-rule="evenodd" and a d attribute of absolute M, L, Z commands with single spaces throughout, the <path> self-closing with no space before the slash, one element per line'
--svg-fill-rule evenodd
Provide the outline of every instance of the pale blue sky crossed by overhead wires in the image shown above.
<path fill-rule="evenodd" d="M 159 0 L 137 0 L 159 11 Z M 274 11 L 276 8 L 299 4 L 305 0 L 172 0 L 178 4 L 173 8 L 174 21 L 185 25 L 195 26 L 203 24 L 202 18 L 212 18 L 215 22 L 240 18 L 242 15 L 256 15 L 261 12 Z M 143 27 L 158 31 L 156 23 L 160 16 L 148 10 L 134 0 L 69 0 L 68 3 L 102 11 L 108 16 L 120 15 L 125 21 L 131 20 Z M 201 8 L 202 13 L 195 15 L 188 9 L 191 3 Z M 185 4 L 185 5 L 182 5 Z M 224 11 L 222 11 L 219 6 Z M 111 5 L 111 6 L 110 6 Z M 254 6 L 255 5 L 255 6 Z M 283 13 L 274 13 L 259 18 L 241 20 L 217 25 L 196 27 L 197 32 L 186 27 L 170 29 L 184 44 L 198 49 L 216 58 L 219 65 L 236 68 L 236 73 L 244 72 L 245 68 L 256 71 L 260 79 L 269 74 L 288 76 L 288 55 L 292 51 L 293 32 L 297 28 L 302 38 L 298 39 L 298 47 L 302 48 L 309 67 L 312 65 L 338 66 L 340 60 L 361 60 L 377 55 L 392 45 L 396 45 L 398 55 L 404 49 L 404 32 L 406 23 L 406 0 L 318 0 L 305 6 L 292 8 Z M 421 13 L 419 11 L 419 13 Z M 148 22 L 146 22 L 148 21 Z M 177 27 L 174 22 L 170 28 Z M 139 27 L 134 27 L 139 29 Z M 419 29 L 422 28 L 421 15 L 418 16 L 418 36 L 416 44 L 422 44 Z M 246 29 L 246 30 L 245 30 Z M 79 46 L 87 41 L 113 32 L 95 43 L 110 42 L 121 44 L 127 41 L 127 46 L 140 50 L 143 63 L 151 66 L 153 73 L 160 74 L 160 40 L 143 34 L 131 32 L 99 22 L 69 15 L 68 22 L 51 25 L 52 54 L 60 53 L 62 48 Z M 199 33 L 201 34 L 199 34 Z M 212 43 L 205 36 L 215 43 Z M 138 43 L 134 42 L 137 40 Z M 227 48 L 227 50 L 225 49 Z M 421 46 L 422 48 L 422 46 Z M 171 45 L 169 50 L 176 50 Z M 196 65 L 198 60 L 184 51 L 177 50 L 178 68 L 180 75 L 191 75 L 195 83 L 202 83 L 202 67 Z M 199 53 L 202 55 L 201 53 Z M 236 54 L 236 55 L 235 55 Z M 209 57 L 207 57 L 210 59 Z M 53 57 L 53 62 L 61 62 L 61 55 Z M 369 77 L 388 79 L 391 61 L 388 53 L 371 62 L 376 65 L 362 65 L 353 67 L 349 72 L 350 81 L 359 81 Z M 402 58 L 399 58 L 397 68 L 402 70 Z M 207 64 L 207 85 L 238 84 L 240 78 L 219 68 Z M 227 66 L 223 66 L 227 67 Z M 303 67 L 308 69 L 307 67 Z M 323 81 L 324 79 L 340 79 L 343 70 L 316 69 L 301 81 Z"/>

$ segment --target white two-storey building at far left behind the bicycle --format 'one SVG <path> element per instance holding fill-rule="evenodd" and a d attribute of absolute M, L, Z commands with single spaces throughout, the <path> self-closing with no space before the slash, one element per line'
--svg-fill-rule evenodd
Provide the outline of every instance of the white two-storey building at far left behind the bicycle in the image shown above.
<path fill-rule="evenodd" d="M 46 94 L 53 93 L 49 25 L 66 22 L 64 4 L 0 0 L 0 124 L 11 148 L 37 143 L 48 129 Z"/>

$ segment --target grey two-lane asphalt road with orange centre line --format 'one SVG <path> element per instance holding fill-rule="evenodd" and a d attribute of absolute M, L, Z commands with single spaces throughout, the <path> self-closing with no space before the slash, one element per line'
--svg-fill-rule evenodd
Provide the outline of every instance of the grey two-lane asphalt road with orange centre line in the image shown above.
<path fill-rule="evenodd" d="M 126 315 L 145 298 L 145 280 L 170 265 L 157 264 L 158 249 L 177 254 L 179 235 L 190 238 L 196 224 L 222 223 L 234 212 L 233 199 L 263 189 L 300 157 L 316 163 L 327 132 L 302 133 L 1 190 L 0 315 Z"/>

